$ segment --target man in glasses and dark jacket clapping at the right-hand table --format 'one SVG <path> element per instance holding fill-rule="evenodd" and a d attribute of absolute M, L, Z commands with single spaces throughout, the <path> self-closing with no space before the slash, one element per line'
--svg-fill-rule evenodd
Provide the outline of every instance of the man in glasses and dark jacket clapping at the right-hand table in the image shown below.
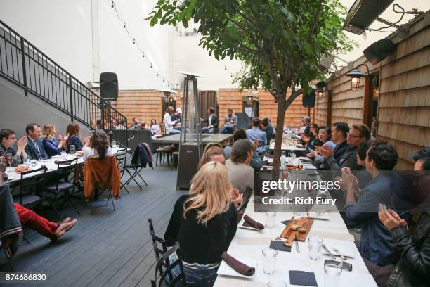
<path fill-rule="evenodd" d="M 327 166 L 330 170 L 335 171 L 338 175 L 343 167 L 349 167 L 350 170 L 361 170 L 360 165 L 357 163 L 357 150 L 363 141 L 370 139 L 370 129 L 365 124 L 356 124 L 351 127 L 349 134 L 346 138 L 348 147 L 340 158 L 334 158 L 334 151 L 320 148 L 318 151 L 327 158 Z"/>

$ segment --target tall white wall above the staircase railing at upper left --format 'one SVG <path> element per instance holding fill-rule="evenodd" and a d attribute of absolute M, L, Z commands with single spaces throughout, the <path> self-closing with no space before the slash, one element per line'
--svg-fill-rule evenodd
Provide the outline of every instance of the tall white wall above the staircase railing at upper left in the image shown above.
<path fill-rule="evenodd" d="M 116 72 L 119 89 L 162 87 L 161 77 L 125 36 L 111 2 L 93 1 L 98 1 L 100 72 Z M 115 3 L 154 68 L 168 77 L 168 27 L 149 27 L 144 20 L 156 0 Z M 91 0 L 1 0 L 0 19 L 81 82 L 93 80 Z"/>

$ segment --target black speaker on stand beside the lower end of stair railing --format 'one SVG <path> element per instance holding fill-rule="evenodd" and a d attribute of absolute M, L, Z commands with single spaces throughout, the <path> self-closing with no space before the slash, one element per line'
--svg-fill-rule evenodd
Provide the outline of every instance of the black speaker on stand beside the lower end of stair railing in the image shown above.
<path fill-rule="evenodd" d="M 105 130 L 105 108 L 109 119 L 109 129 L 105 132 L 109 135 L 110 143 L 112 143 L 112 120 L 110 101 L 116 101 L 118 98 L 118 77 L 115 72 L 102 72 L 100 74 L 100 108 L 101 113 L 101 128 Z"/>

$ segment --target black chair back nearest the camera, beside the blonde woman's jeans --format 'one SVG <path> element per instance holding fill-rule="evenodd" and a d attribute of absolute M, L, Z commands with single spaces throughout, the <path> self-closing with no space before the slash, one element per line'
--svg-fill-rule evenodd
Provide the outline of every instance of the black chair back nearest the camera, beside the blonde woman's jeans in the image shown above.
<path fill-rule="evenodd" d="M 164 267 L 163 271 L 162 267 L 164 266 L 164 262 L 166 262 L 166 260 L 169 261 L 169 257 L 174 253 L 176 253 L 176 260 L 171 261 L 168 267 Z M 176 267 L 179 267 L 179 273 L 171 280 L 167 279 L 167 276 L 172 276 L 172 270 Z M 169 283 L 166 283 L 167 281 Z M 155 279 L 151 280 L 151 286 L 161 287 L 167 285 L 169 287 L 174 287 L 176 286 L 176 283 L 179 282 L 181 282 L 183 286 L 186 286 L 185 272 L 183 271 L 183 263 L 181 252 L 179 250 L 179 243 L 176 243 L 172 248 L 167 250 L 167 252 L 165 252 L 162 257 L 160 257 L 157 261 L 157 264 L 155 265 Z"/>

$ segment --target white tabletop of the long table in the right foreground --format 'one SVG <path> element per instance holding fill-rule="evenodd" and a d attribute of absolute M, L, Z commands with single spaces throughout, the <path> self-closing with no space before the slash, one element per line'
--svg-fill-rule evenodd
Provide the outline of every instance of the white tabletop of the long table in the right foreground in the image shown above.
<path fill-rule="evenodd" d="M 278 251 L 275 262 L 275 272 L 271 275 L 263 273 L 263 254 L 262 250 L 269 248 L 272 240 L 280 236 L 285 229 L 285 224 L 281 221 L 292 219 L 292 212 L 277 212 L 275 225 L 273 228 L 265 227 L 261 231 L 237 228 L 235 237 L 228 248 L 228 254 L 237 260 L 244 262 L 256 262 L 256 272 L 254 276 L 243 278 L 237 276 L 226 276 L 219 274 L 216 279 L 216 287 L 240 287 L 240 286 L 267 286 L 268 281 L 284 281 L 287 286 L 296 286 L 289 283 L 289 270 L 299 270 L 305 272 L 314 272 L 315 279 L 319 287 L 324 287 L 324 261 L 330 260 L 329 255 L 323 252 L 318 260 L 312 260 L 309 257 L 308 238 L 318 236 L 323 238 L 326 245 L 337 247 L 339 250 L 348 250 L 353 257 L 347 257 L 346 262 L 353 265 L 352 271 L 343 270 L 339 286 L 377 286 L 372 275 L 369 274 L 367 267 L 360 256 L 360 253 L 354 243 L 354 237 L 349 234 L 346 224 L 342 219 L 336 206 L 331 208 L 331 212 L 326 212 L 320 219 L 314 219 L 311 230 L 305 242 L 299 241 L 299 253 L 296 250 L 295 243 L 292 245 L 291 252 Z M 312 210 L 310 210 L 311 212 Z M 254 212 L 254 195 L 249 199 L 245 215 L 248 215 L 257 222 L 265 223 L 266 214 L 263 212 Z M 305 214 L 302 214 L 305 215 Z M 341 261 L 340 257 L 336 257 Z M 222 262 L 222 264 L 226 264 Z M 221 269 L 221 267 L 220 267 Z M 219 272 L 220 273 L 220 272 Z"/>

